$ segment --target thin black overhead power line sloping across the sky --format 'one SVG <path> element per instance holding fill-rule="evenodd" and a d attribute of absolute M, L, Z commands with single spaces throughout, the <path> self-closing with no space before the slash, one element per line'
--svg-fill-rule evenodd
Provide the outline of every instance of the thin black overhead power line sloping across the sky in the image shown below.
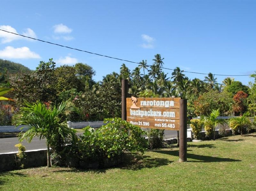
<path fill-rule="evenodd" d="M 5 31 L 3 29 L 0 29 L 1 31 L 4 31 L 6 33 L 12 33 L 10 31 Z M 32 38 L 32 37 L 29 37 L 29 36 L 25 36 L 25 35 L 22 35 L 22 34 L 18 34 L 18 33 L 12 33 L 12 34 L 15 34 L 15 35 L 18 35 L 18 36 L 22 36 L 22 37 L 25 37 L 25 38 L 29 38 L 29 39 L 33 39 L 33 40 L 38 40 L 38 41 L 41 41 L 41 42 L 45 42 L 45 43 L 49 43 L 49 44 L 53 44 L 53 45 L 57 45 L 57 46 L 60 46 L 60 47 L 65 47 L 65 48 L 69 48 L 69 49 L 73 49 L 73 50 L 77 50 L 77 51 L 81 51 L 81 52 L 86 52 L 86 53 L 89 53 L 89 54 L 94 54 L 94 55 L 98 55 L 98 56 L 104 56 L 104 57 L 107 57 L 107 58 L 112 58 L 112 59 L 116 59 L 116 60 L 121 60 L 121 61 L 125 61 L 125 62 L 131 62 L 131 63 L 135 63 L 135 64 L 140 64 L 140 62 L 132 62 L 132 61 L 129 61 L 129 60 L 124 60 L 124 59 L 120 59 L 120 58 L 115 58 L 115 57 L 112 57 L 112 56 L 107 56 L 107 55 L 101 55 L 101 54 L 97 54 L 97 53 L 93 53 L 93 52 L 89 52 L 89 51 L 86 51 L 86 50 L 81 50 L 81 49 L 78 49 L 78 48 L 72 48 L 72 47 L 68 47 L 68 46 L 64 46 L 64 45 L 60 45 L 60 44 L 56 44 L 56 43 L 52 43 L 52 42 L 48 42 L 48 41 L 45 41 L 45 40 L 40 40 L 40 39 L 36 39 L 36 38 Z M 141 64 L 140 64 L 141 65 Z M 152 66 L 152 65 L 149 65 L 149 64 L 146 64 L 146 66 Z M 174 70 L 174 69 L 170 69 L 170 68 L 165 68 L 165 67 L 160 67 L 162 69 L 166 69 L 166 70 Z M 184 71 L 182 70 L 183 72 L 187 72 L 187 73 L 193 73 L 193 74 L 204 74 L 204 75 L 208 75 L 207 73 L 200 73 L 200 72 L 189 72 L 189 71 Z M 249 75 L 224 75 L 224 74 L 213 74 L 215 76 L 250 76 Z"/>

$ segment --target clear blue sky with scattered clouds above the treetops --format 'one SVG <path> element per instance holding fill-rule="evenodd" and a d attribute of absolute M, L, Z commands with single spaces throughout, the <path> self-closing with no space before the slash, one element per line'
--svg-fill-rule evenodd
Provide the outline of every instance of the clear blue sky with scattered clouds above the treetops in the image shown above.
<path fill-rule="evenodd" d="M 0 1 L 0 29 L 102 55 L 190 72 L 246 75 L 256 70 L 256 1 Z M 35 69 L 87 63 L 94 80 L 137 64 L 0 31 L 0 58 Z M 171 70 L 164 70 L 171 77 Z M 190 79 L 205 75 L 185 73 Z M 215 76 L 218 82 L 228 76 Z M 235 77 L 248 84 L 252 78 Z"/>

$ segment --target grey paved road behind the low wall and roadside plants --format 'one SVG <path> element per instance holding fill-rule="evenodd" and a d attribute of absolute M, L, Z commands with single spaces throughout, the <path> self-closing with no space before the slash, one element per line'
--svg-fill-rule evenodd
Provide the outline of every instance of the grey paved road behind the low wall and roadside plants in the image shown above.
<path fill-rule="evenodd" d="M 82 133 L 77 133 L 81 135 Z M 170 139 L 177 137 L 177 131 L 164 131 L 164 139 Z M 15 144 L 20 143 L 17 137 L 12 138 L 0 138 L 0 153 L 18 151 L 18 148 L 14 147 Z M 26 147 L 26 150 L 46 149 L 45 139 L 39 140 L 38 137 L 34 137 L 30 143 L 23 141 L 22 144 Z"/>

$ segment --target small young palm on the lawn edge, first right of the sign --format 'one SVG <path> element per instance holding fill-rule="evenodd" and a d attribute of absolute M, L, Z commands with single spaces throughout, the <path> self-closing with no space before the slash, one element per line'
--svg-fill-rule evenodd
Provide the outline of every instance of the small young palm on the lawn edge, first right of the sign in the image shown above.
<path fill-rule="evenodd" d="M 213 140 L 215 140 L 215 128 L 219 124 L 222 125 L 226 123 L 225 119 L 218 118 L 219 115 L 220 115 L 220 111 L 219 109 L 217 109 L 217 110 L 212 110 L 212 113 L 209 116 L 202 118 L 204 121 L 204 124 L 212 128 Z"/>

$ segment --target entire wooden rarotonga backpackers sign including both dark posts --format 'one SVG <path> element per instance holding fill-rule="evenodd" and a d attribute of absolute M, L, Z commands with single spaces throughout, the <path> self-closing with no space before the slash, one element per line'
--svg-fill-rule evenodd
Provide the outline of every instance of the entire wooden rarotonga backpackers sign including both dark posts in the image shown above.
<path fill-rule="evenodd" d="M 187 99 L 127 98 L 127 80 L 122 80 L 122 120 L 141 128 L 179 130 L 179 161 L 187 161 Z"/>

